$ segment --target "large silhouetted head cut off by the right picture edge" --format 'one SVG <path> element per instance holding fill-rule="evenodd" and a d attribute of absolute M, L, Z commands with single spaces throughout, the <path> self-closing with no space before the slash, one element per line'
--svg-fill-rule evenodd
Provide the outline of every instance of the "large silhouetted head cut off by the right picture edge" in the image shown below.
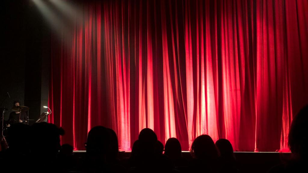
<path fill-rule="evenodd" d="M 307 157 L 308 146 L 308 105 L 293 118 L 289 132 L 289 146 L 292 153 Z"/>

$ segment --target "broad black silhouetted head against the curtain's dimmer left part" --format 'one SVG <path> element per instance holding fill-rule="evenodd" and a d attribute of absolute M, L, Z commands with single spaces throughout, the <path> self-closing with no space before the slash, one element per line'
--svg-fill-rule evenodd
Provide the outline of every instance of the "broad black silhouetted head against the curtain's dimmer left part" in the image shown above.
<path fill-rule="evenodd" d="M 110 132 L 106 127 L 93 127 L 87 138 L 87 156 L 103 158 L 109 152 Z"/>

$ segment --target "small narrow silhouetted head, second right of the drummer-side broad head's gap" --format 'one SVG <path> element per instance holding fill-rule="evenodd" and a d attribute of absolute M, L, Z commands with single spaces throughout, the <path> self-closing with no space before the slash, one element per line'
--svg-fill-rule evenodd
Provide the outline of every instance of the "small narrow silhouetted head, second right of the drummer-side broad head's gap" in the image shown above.
<path fill-rule="evenodd" d="M 165 144 L 165 155 L 169 158 L 176 159 L 182 156 L 182 148 L 179 140 L 169 138 Z"/>

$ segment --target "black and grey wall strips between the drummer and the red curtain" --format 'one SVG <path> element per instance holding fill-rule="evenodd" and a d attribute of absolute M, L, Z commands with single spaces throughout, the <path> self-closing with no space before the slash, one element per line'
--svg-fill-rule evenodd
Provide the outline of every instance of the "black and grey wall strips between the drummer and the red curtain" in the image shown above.
<path fill-rule="evenodd" d="M 31 1 L 28 8 L 25 105 L 30 107 L 29 119 L 38 119 L 48 105 L 50 30 Z"/>

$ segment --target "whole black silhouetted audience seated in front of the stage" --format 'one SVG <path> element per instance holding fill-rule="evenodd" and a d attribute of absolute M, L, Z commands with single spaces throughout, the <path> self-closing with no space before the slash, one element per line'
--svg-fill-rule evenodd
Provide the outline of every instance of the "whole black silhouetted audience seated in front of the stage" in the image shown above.
<path fill-rule="evenodd" d="M 294 117 L 290 127 L 292 159 L 286 164 L 273 167 L 270 173 L 307 171 L 307 124 L 308 106 Z M 32 126 L 13 124 L 6 137 L 9 147 L 0 152 L 0 163 L 6 165 L 2 170 L 71 173 L 240 172 L 229 140 L 219 139 L 214 143 L 209 135 L 200 135 L 193 141 L 190 149 L 192 159 L 186 160 L 182 157 L 178 139 L 168 139 L 164 148 L 155 132 L 145 128 L 134 142 L 130 158 L 119 159 L 119 143 L 115 131 L 96 126 L 88 133 L 86 158 L 83 162 L 74 158 L 73 146 L 60 146 L 60 135 L 64 135 L 64 130 L 50 123 L 35 123 Z M 28 166 L 30 163 L 34 165 Z"/>

